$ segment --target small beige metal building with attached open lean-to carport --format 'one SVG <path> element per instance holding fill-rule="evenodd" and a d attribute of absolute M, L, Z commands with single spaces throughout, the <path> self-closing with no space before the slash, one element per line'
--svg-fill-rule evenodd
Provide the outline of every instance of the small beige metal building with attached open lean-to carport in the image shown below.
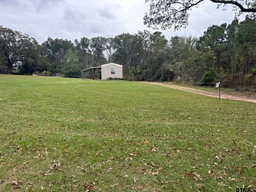
<path fill-rule="evenodd" d="M 81 71 L 82 78 L 86 78 L 85 73 L 92 71 L 92 79 L 99 79 L 101 73 L 101 79 L 106 80 L 108 78 L 123 78 L 123 66 L 116 63 L 107 63 L 101 65 L 101 67 L 90 67 Z"/>

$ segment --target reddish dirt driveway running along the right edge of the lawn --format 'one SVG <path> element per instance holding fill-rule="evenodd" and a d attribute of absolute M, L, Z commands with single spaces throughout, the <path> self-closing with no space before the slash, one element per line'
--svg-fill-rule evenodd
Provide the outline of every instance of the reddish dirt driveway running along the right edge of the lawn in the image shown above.
<path fill-rule="evenodd" d="M 201 94 L 201 95 L 205 95 L 205 96 L 209 96 L 209 97 L 219 98 L 219 93 L 213 93 L 213 92 L 208 92 L 208 91 L 203 91 L 203 90 L 198 90 L 198 89 L 193 89 L 193 88 L 188 88 L 188 87 L 182 87 L 182 86 L 164 84 L 164 83 L 156 83 L 156 82 L 139 82 L 139 83 L 161 85 L 161 86 L 169 87 L 172 89 L 188 91 L 190 93 L 196 93 L 196 94 Z M 231 99 L 231 100 L 237 100 L 237 101 L 247 101 L 247 102 L 256 103 L 256 99 L 237 97 L 237 96 L 233 96 L 233 95 L 229 95 L 229 94 L 225 94 L 225 93 L 221 93 L 221 99 Z"/>

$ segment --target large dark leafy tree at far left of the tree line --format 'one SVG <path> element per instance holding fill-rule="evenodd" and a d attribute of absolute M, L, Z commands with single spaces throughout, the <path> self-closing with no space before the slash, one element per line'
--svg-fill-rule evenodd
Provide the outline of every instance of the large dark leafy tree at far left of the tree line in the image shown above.
<path fill-rule="evenodd" d="M 43 61 L 39 49 L 40 46 L 33 37 L 0 26 L 1 58 L 9 70 L 18 68 L 21 74 L 48 70 L 49 63 Z"/>

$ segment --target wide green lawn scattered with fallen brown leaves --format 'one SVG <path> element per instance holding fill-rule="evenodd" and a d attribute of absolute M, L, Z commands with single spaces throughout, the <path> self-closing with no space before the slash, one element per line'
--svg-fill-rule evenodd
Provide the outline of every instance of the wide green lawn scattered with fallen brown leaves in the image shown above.
<path fill-rule="evenodd" d="M 256 189 L 254 103 L 0 75 L 0 108 L 0 191 Z"/>

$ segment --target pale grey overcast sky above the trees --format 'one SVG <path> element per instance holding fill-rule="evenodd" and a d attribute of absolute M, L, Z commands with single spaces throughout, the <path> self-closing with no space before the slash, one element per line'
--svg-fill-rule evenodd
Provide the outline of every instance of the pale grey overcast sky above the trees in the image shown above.
<path fill-rule="evenodd" d="M 207 27 L 234 19 L 231 7 L 227 11 L 215 7 L 206 0 L 191 11 L 186 29 L 164 30 L 164 35 L 199 37 Z M 137 33 L 147 29 L 143 15 L 149 7 L 145 0 L 0 0 L 0 10 L 0 25 L 29 34 L 42 43 L 49 36 L 74 41 L 83 36 Z"/>

